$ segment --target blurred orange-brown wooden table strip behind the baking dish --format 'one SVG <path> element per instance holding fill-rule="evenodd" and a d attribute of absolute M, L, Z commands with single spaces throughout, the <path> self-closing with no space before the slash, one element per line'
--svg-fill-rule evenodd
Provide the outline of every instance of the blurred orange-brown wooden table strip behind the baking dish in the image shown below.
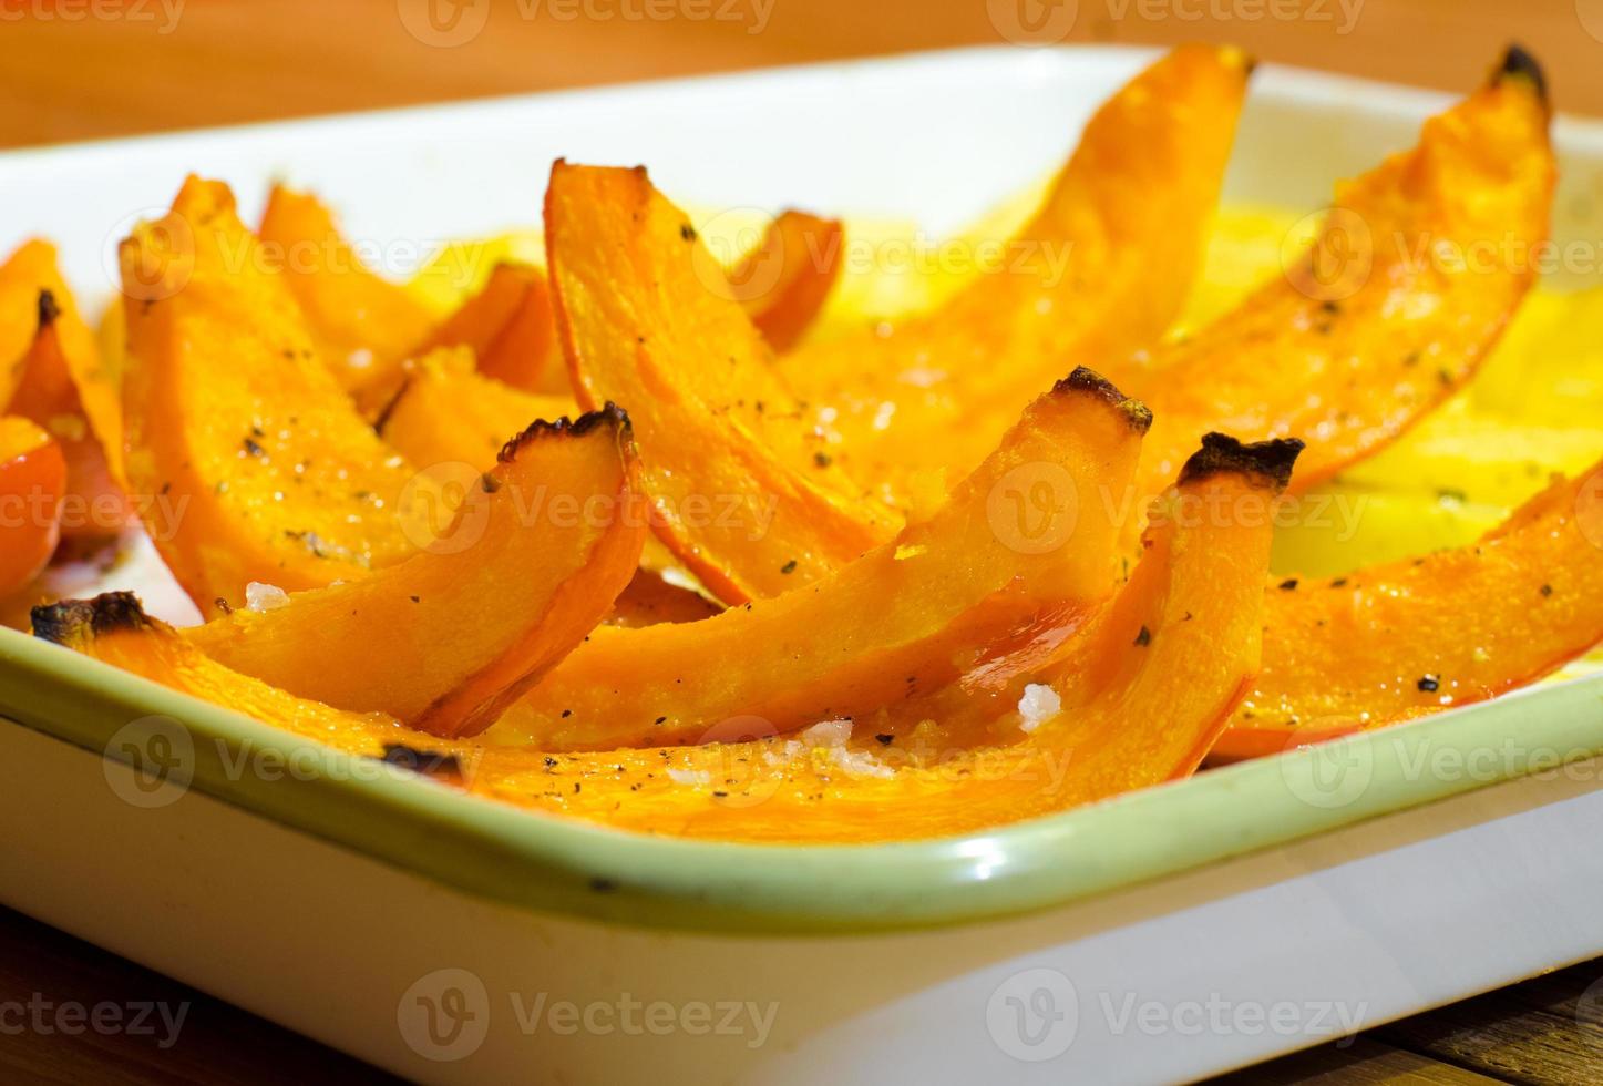
<path fill-rule="evenodd" d="M 1236 42 L 1271 61 L 1452 90 L 1518 38 L 1548 67 L 1563 109 L 1603 114 L 1600 0 L 1047 2 L 1074 10 L 1072 42 Z M 63 18 L 95 3 L 123 14 Z M 402 19 L 415 26 L 430 3 L 446 18 L 462 3 L 483 29 L 430 45 Z M 0 0 L 0 146 L 1002 45 L 1015 13 L 1044 18 L 1053 8 L 1042 3 Z"/>

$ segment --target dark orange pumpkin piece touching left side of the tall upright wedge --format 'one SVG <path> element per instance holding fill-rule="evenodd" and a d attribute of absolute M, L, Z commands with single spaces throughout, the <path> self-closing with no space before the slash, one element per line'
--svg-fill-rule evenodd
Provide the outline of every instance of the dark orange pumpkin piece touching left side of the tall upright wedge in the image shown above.
<path fill-rule="evenodd" d="M 567 374 L 553 319 L 545 268 L 500 263 L 426 346 L 471 346 L 486 377 L 523 391 L 559 393 Z"/>

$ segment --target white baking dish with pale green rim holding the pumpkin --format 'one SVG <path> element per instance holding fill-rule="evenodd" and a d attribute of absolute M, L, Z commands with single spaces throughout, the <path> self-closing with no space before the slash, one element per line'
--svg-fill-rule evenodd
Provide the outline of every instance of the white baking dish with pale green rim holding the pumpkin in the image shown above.
<path fill-rule="evenodd" d="M 404 263 L 534 223 L 556 156 L 939 233 L 1149 58 L 965 50 L 19 151 L 0 247 L 55 237 L 93 310 L 115 239 L 194 170 L 247 209 L 285 175 Z M 1314 209 L 1446 101 L 1260 71 L 1228 197 Z M 1555 233 L 1603 236 L 1603 125 L 1557 136 Z M 147 566 L 112 581 L 183 608 Z M 159 784 L 125 760 L 168 727 L 197 749 Z M 289 768 L 229 772 L 240 749 Z M 959 841 L 689 844 L 361 773 L 0 632 L 0 900 L 426 1081 L 1167 1081 L 1603 951 L 1600 751 L 1582 679 Z"/>

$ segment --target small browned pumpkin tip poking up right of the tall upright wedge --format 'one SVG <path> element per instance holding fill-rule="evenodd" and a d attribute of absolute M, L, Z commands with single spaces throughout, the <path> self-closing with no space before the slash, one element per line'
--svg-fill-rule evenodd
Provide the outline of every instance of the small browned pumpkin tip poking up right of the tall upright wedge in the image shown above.
<path fill-rule="evenodd" d="M 781 212 L 757 247 L 729 266 L 729 292 L 776 351 L 789 351 L 824 308 L 840 278 L 845 231 L 838 218 Z"/>

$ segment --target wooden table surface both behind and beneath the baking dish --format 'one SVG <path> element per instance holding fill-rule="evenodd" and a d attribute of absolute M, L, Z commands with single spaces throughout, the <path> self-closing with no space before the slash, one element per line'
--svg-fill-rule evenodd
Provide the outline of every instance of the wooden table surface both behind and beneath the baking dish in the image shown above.
<path fill-rule="evenodd" d="M 430 3 L 444 16 L 460 6 L 454 32 L 466 40 L 446 43 Z M 1441 88 L 1468 85 L 1520 40 L 1545 63 L 1561 109 L 1603 114 L 1603 0 L 0 0 L 0 146 L 995 45 L 1020 26 L 1018 3 L 1028 16 L 1071 11 L 1068 40 L 1236 42 L 1270 61 Z M 678 14 L 638 18 L 664 10 Z M 694 18 L 707 10 L 731 18 Z M 1577 966 L 1233 1080 L 1600 1083 L 1603 1011 L 1581 998 L 1600 979 L 1603 961 Z M 127 1033 L 0 1030 L 0 1080 L 383 1081 L 0 910 L 0 1006 L 35 993 L 167 1001 L 189 1015 L 168 1049 Z"/>

